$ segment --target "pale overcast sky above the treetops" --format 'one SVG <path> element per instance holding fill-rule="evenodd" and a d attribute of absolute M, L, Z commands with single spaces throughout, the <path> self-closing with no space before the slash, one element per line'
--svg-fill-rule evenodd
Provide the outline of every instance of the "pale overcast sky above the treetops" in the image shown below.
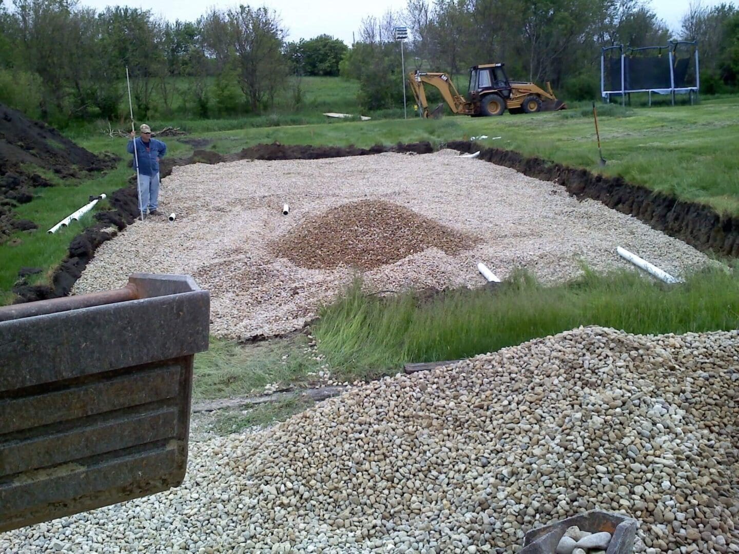
<path fill-rule="evenodd" d="M 719 4 L 721 0 L 703 0 L 704 6 Z M 107 5 L 118 4 L 131 7 L 151 9 L 154 14 L 164 16 L 170 21 L 181 19 L 194 21 L 202 16 L 211 6 L 231 7 L 239 4 L 238 0 L 176 0 L 171 3 L 157 3 L 141 0 L 81 0 L 81 4 L 95 7 L 98 10 Z M 288 40 L 313 38 L 323 33 L 341 38 L 348 45 L 352 44 L 352 33 L 358 31 L 362 18 L 381 16 L 388 9 L 402 10 L 406 3 L 403 0 L 375 0 L 372 2 L 335 0 L 242 0 L 242 4 L 253 6 L 266 5 L 279 14 L 282 24 L 287 28 Z M 649 2 L 659 17 L 664 19 L 672 30 L 680 28 L 680 18 L 687 12 L 689 0 L 651 0 Z M 157 8 L 166 6 L 166 9 Z"/>

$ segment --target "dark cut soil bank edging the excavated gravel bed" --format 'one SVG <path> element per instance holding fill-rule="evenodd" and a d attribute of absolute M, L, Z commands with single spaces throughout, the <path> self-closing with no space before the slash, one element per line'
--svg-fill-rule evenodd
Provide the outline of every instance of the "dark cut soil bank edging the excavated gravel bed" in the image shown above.
<path fill-rule="evenodd" d="M 535 177 L 562 185 L 569 194 L 579 199 L 590 198 L 608 208 L 636 217 L 650 227 L 669 236 L 681 239 L 692 247 L 719 256 L 739 256 L 739 218 L 721 216 L 706 205 L 684 202 L 641 185 L 632 185 L 621 177 L 604 177 L 586 169 L 570 168 L 539 157 L 524 157 L 515 151 L 500 148 L 481 148 L 469 141 L 453 141 L 446 148 L 469 153 L 480 150 L 480 160 L 513 168 L 528 177 Z M 321 158 L 364 156 L 381 152 L 405 154 L 429 154 L 434 151 L 431 143 L 398 143 L 395 146 L 375 145 L 371 148 L 354 146 L 288 146 L 280 143 L 258 144 L 244 148 L 236 154 L 222 155 L 214 151 L 196 150 L 191 157 L 165 159 L 161 176 L 171 174 L 174 165 L 190 163 L 222 163 L 236 160 L 318 160 Z M 125 188 L 112 194 L 111 211 L 95 213 L 98 225 L 75 236 L 69 244 L 67 258 L 52 276 L 51 285 L 29 285 L 21 277 L 13 293 L 18 295 L 15 304 L 65 296 L 72 290 L 95 250 L 116 233 L 131 225 L 137 216 L 137 195 L 134 179 Z"/>

